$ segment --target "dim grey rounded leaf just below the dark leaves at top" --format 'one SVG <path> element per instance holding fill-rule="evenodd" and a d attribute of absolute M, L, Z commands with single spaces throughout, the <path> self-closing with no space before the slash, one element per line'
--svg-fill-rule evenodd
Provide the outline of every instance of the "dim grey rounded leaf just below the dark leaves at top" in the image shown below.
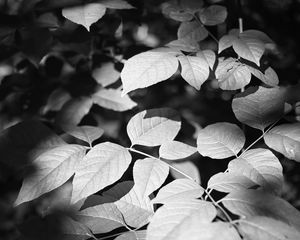
<path fill-rule="evenodd" d="M 185 41 L 202 41 L 208 36 L 208 32 L 197 21 L 182 22 L 178 28 L 178 39 L 184 39 Z"/>

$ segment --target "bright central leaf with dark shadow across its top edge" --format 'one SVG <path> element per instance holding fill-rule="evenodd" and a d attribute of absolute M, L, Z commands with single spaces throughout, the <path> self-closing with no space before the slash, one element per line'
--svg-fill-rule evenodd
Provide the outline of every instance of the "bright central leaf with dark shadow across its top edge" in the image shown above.
<path fill-rule="evenodd" d="M 155 108 L 134 115 L 127 124 L 127 134 L 132 145 L 159 146 L 172 141 L 180 127 L 180 117 L 175 110 Z"/>

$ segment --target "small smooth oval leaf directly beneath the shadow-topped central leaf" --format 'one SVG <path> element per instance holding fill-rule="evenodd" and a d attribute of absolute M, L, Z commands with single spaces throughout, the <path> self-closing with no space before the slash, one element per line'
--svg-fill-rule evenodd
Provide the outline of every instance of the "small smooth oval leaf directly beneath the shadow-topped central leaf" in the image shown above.
<path fill-rule="evenodd" d="M 159 156 L 168 160 L 186 158 L 195 152 L 197 152 L 195 147 L 178 141 L 165 142 L 159 148 Z"/>

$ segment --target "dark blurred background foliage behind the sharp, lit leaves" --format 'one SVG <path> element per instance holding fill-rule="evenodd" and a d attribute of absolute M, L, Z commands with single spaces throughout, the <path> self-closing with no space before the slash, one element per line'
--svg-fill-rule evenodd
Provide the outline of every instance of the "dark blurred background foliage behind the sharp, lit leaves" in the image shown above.
<path fill-rule="evenodd" d="M 1 131 L 20 121 L 36 119 L 62 134 L 60 119 L 69 109 L 66 103 L 84 102 L 101 85 L 120 88 L 123 59 L 176 39 L 179 22 L 163 15 L 164 1 L 128 0 L 134 9 L 109 9 L 91 26 L 90 32 L 65 19 L 61 13 L 62 8 L 83 2 L 88 1 L 0 0 Z M 299 0 L 242 0 L 240 8 L 233 0 L 206 0 L 203 4 L 227 7 L 226 22 L 209 27 L 216 38 L 237 28 L 237 19 L 242 17 L 244 29 L 261 30 L 276 43 L 276 49 L 264 56 L 263 61 L 275 69 L 280 85 L 299 82 Z M 212 38 L 202 41 L 200 46 L 217 49 Z M 124 146 L 129 145 L 125 131 L 128 119 L 147 108 L 178 110 L 183 118 L 179 138 L 191 145 L 195 145 L 193 136 L 197 129 L 214 122 L 237 122 L 230 104 L 234 91 L 218 89 L 214 76 L 200 91 L 179 78 L 179 74 L 175 74 L 168 81 L 130 93 L 137 103 L 130 111 L 120 113 L 95 104 L 86 111 L 86 105 L 80 104 L 80 108 L 75 104 L 73 110 L 69 109 L 68 121 L 99 126 L 104 129 L 104 139 Z M 297 105 L 290 117 L 299 121 L 298 115 L 300 106 Z M 256 130 L 248 128 L 246 134 L 248 144 L 259 136 Z M 286 176 L 284 197 L 300 209 L 299 163 L 279 157 Z M 199 158 L 192 160 L 200 169 L 204 184 L 209 176 L 224 170 L 228 162 Z M 23 220 L 25 210 L 15 211 L 12 202 L 22 179 L 15 169 L 7 167 L 5 159 L 0 164 L 0 238 L 15 239 L 15 226 Z"/>

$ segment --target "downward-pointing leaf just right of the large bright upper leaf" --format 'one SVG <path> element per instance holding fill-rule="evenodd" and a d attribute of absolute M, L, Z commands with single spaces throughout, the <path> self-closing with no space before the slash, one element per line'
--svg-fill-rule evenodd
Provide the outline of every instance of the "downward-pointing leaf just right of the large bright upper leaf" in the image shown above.
<path fill-rule="evenodd" d="M 178 56 L 181 64 L 181 76 L 191 86 L 200 90 L 201 85 L 209 76 L 209 65 L 199 56 Z"/>

